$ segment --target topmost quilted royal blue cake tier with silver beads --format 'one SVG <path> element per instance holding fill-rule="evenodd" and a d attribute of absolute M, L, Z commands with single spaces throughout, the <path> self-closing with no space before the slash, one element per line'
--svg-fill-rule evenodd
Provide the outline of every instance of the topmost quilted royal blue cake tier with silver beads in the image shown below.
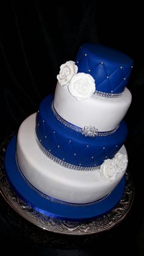
<path fill-rule="evenodd" d="M 79 48 L 76 65 L 78 72 L 93 76 L 96 92 L 120 94 L 128 83 L 133 60 L 116 49 L 85 43 Z"/>

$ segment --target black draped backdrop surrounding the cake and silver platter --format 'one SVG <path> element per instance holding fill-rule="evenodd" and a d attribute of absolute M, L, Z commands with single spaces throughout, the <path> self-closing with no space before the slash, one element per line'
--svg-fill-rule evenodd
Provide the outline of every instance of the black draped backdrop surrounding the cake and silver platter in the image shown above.
<path fill-rule="evenodd" d="M 1 141 L 37 111 L 46 95 L 54 93 L 60 65 L 74 60 L 82 43 L 102 43 L 123 51 L 134 60 L 127 86 L 132 93 L 132 103 L 124 117 L 129 131 L 126 140 L 129 170 L 135 183 L 131 213 L 117 229 L 100 238 L 83 238 L 84 243 L 79 238 L 77 243 L 77 239 L 61 236 L 59 242 L 59 236 L 48 232 L 53 240 L 44 245 L 41 240 L 38 243 L 38 238 L 31 239 L 31 232 L 34 232 L 31 225 L 27 233 L 18 227 L 15 230 L 13 220 L 5 214 L 10 208 L 1 199 L 1 237 L 10 246 L 16 244 L 18 255 L 33 255 L 33 252 L 35 255 L 119 255 L 128 252 L 139 255 L 144 195 L 143 20 L 139 1 L 52 1 L 51 5 L 49 1 L 0 3 Z M 27 222 L 23 223 L 26 228 Z M 35 234 L 37 232 L 42 236 L 41 231 L 35 230 Z"/>

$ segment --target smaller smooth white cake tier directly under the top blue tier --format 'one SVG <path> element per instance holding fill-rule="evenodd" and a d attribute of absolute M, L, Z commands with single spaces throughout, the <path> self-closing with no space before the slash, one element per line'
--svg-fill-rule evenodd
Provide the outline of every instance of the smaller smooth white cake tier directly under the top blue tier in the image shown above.
<path fill-rule="evenodd" d="M 67 86 L 57 83 L 54 95 L 54 108 L 67 122 L 84 128 L 95 126 L 98 131 L 114 130 L 131 104 L 131 92 L 124 89 L 121 97 L 108 98 L 92 95 L 87 100 L 74 98 Z"/>

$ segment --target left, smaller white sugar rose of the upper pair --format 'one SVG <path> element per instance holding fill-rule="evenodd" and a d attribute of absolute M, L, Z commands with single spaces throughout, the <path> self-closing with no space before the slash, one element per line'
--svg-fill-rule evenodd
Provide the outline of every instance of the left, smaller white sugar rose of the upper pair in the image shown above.
<path fill-rule="evenodd" d="M 60 86 L 68 86 L 71 78 L 77 73 L 78 67 L 73 60 L 69 60 L 60 66 L 60 73 L 57 75 L 57 80 Z"/>

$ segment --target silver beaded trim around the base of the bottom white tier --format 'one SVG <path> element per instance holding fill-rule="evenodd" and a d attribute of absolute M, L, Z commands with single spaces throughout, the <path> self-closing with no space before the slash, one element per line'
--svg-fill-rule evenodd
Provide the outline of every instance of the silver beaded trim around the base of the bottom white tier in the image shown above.
<path fill-rule="evenodd" d="M 87 207 L 88 205 L 95 205 L 96 203 L 99 203 L 101 201 L 103 201 L 104 199 L 106 199 L 110 194 L 107 194 L 107 196 L 103 197 L 102 199 L 98 200 L 98 201 L 95 201 L 95 202 L 92 202 L 92 203 L 69 203 L 69 202 L 65 202 L 65 201 L 62 201 L 62 200 L 59 200 L 59 199 L 55 199 L 53 197 L 49 197 L 47 196 L 46 194 L 44 194 L 43 192 L 39 191 L 37 188 L 35 188 L 28 180 L 27 178 L 23 175 L 23 173 L 21 172 L 20 170 L 20 167 L 18 165 L 18 159 L 17 159 L 17 155 L 15 155 L 15 161 L 16 161 L 16 166 L 18 168 L 18 171 L 20 172 L 21 176 L 23 177 L 24 181 L 26 181 L 27 185 L 34 189 L 35 192 L 37 192 L 41 197 L 44 197 L 46 200 L 49 200 L 51 202 L 54 202 L 54 203 L 59 203 L 61 205 L 68 205 L 70 207 Z"/>

